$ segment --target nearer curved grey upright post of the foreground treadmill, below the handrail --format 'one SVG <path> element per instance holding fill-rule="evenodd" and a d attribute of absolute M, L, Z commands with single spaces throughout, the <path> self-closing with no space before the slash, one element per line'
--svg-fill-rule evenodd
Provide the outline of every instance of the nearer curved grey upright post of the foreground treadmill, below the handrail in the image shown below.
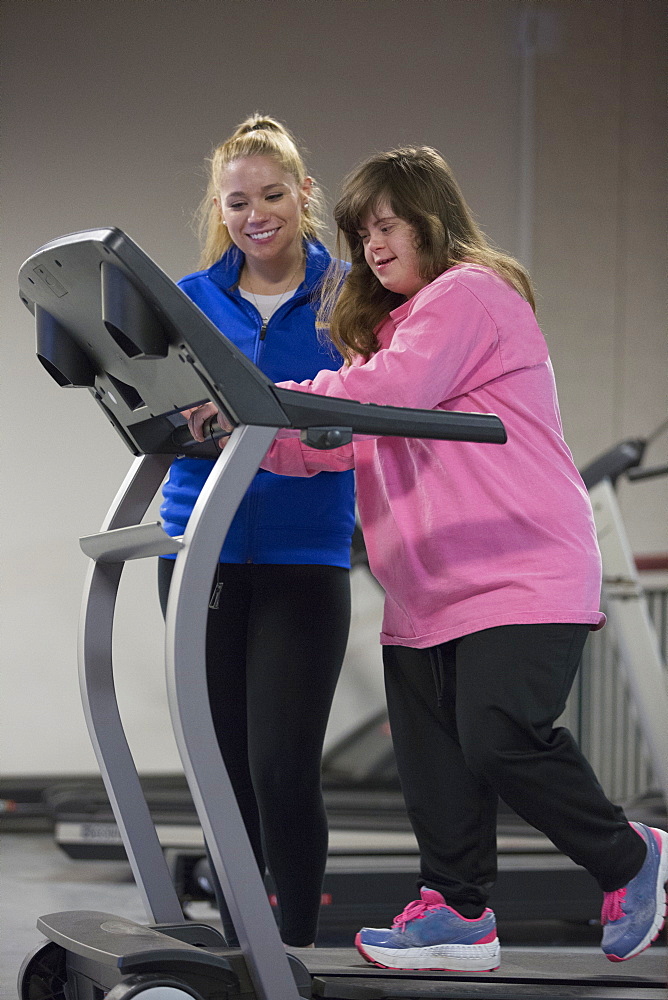
<path fill-rule="evenodd" d="M 258 1000 L 298 1000 L 208 707 L 208 597 L 237 507 L 276 436 L 238 426 L 207 479 L 176 557 L 166 615 L 167 690 L 176 742 Z M 298 822 L 298 817 L 296 817 Z"/>

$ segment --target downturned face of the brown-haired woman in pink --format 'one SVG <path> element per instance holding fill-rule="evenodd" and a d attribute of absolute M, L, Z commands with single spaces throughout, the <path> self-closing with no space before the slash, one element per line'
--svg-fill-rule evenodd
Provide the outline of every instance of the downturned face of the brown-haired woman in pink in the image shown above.
<path fill-rule="evenodd" d="M 383 200 L 363 220 L 358 234 L 366 262 L 384 288 L 411 298 L 429 282 L 420 276 L 415 230 Z"/>

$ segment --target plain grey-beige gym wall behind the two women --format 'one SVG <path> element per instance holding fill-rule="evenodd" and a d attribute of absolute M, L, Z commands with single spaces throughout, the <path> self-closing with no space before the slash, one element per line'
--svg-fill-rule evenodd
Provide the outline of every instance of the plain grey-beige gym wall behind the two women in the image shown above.
<path fill-rule="evenodd" d="M 129 454 L 34 358 L 16 270 L 51 238 L 125 229 L 174 278 L 211 146 L 286 121 L 330 198 L 367 154 L 440 149 L 483 228 L 530 265 L 583 463 L 666 416 L 666 67 L 659 0 L 5 0 L 2 769 L 94 769 L 79 708 L 77 538 Z M 649 460 L 665 460 L 666 440 Z M 636 551 L 668 548 L 666 482 L 624 490 Z M 139 766 L 177 766 L 154 567 L 132 565 L 116 646 Z M 330 738 L 380 703 L 379 599 L 356 623 Z"/>

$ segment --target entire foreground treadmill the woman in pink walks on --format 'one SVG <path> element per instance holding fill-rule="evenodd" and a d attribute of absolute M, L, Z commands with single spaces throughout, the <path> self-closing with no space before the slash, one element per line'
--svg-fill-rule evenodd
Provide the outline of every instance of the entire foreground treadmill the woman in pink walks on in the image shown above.
<path fill-rule="evenodd" d="M 315 448 L 355 433 L 503 443 L 493 415 L 402 410 L 279 389 L 241 354 L 123 232 L 106 228 L 47 244 L 20 272 L 37 354 L 62 387 L 87 388 L 136 456 L 99 532 L 81 539 L 79 670 L 84 713 L 148 925 L 98 911 L 39 918 L 47 941 L 19 976 L 21 1000 L 296 1000 L 437 996 L 619 997 L 663 1000 L 660 956 L 610 974 L 601 955 L 548 962 L 515 952 L 502 973 L 402 973 L 352 950 L 286 953 L 271 914 L 208 713 L 207 598 L 222 541 L 279 430 Z M 142 523 L 176 454 L 211 454 L 180 411 L 213 400 L 235 429 L 184 535 Z M 220 433 L 212 428 L 212 438 Z M 116 702 L 112 633 L 129 559 L 176 554 L 166 615 L 170 711 L 183 768 L 241 943 L 181 909 Z M 299 818 L 295 817 L 298 824 Z M 554 957 L 551 956 L 551 959 Z M 606 970 L 604 973 L 603 970 Z M 606 974 L 607 973 L 607 974 Z"/>

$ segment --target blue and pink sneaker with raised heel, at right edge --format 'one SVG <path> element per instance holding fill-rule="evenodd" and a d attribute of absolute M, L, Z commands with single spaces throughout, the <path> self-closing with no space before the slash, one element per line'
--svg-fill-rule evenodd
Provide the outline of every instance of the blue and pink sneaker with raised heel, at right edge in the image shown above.
<path fill-rule="evenodd" d="M 623 889 L 603 897 L 601 948 L 611 962 L 625 962 L 656 941 L 666 922 L 668 833 L 631 823 L 647 844 L 645 862 Z"/>

